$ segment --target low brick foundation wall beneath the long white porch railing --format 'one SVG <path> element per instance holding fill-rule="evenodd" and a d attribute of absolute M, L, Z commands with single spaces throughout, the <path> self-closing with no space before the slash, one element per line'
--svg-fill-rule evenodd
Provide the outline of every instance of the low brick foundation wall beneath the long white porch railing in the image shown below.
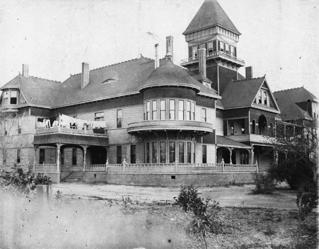
<path fill-rule="evenodd" d="M 172 179 L 175 176 L 175 179 Z M 196 186 L 219 186 L 231 181 L 253 183 L 251 172 L 222 173 L 98 173 L 86 172 L 85 182 L 103 182 L 135 186 L 179 187 L 182 184 Z"/>

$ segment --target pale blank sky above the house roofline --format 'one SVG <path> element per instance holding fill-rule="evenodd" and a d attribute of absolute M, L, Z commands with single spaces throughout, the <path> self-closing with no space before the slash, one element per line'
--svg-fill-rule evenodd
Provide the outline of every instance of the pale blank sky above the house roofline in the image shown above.
<path fill-rule="evenodd" d="M 188 57 L 182 35 L 203 0 L 12 1 L 0 5 L 0 85 L 22 63 L 57 81 L 140 54 L 154 58 L 174 36 L 174 63 Z M 237 56 L 266 74 L 272 91 L 300 87 L 319 97 L 319 0 L 219 0 L 241 32 Z M 239 72 L 245 76 L 245 68 Z"/>

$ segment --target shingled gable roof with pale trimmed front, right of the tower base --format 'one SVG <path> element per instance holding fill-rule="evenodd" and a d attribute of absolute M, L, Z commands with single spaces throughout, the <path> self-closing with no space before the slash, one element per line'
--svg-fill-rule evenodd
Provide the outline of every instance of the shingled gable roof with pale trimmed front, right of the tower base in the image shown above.
<path fill-rule="evenodd" d="M 268 89 L 270 98 L 274 103 L 274 107 L 265 105 L 262 106 L 262 108 L 279 112 L 279 107 L 271 93 L 271 90 L 269 89 L 265 76 L 260 78 L 229 82 L 225 90 L 223 91 L 222 96 L 222 104 L 224 108 L 230 109 L 253 106 L 256 95 L 263 84 L 265 84 Z M 256 104 L 254 105 L 254 107 L 258 107 L 258 105 Z"/>

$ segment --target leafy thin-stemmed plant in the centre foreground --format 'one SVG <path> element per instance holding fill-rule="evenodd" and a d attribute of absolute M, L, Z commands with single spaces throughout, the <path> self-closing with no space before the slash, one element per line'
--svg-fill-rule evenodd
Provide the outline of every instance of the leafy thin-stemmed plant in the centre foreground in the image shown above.
<path fill-rule="evenodd" d="M 220 222 L 217 221 L 216 215 L 221 210 L 219 203 L 214 201 L 211 206 L 211 214 L 208 214 L 208 207 L 211 198 L 201 199 L 199 196 L 197 187 L 193 185 L 181 186 L 179 196 L 175 199 L 175 203 L 183 209 L 184 212 L 192 211 L 194 216 L 191 221 L 191 231 L 194 233 L 200 233 L 205 242 L 205 248 L 207 249 L 207 235 L 211 232 L 216 233 Z"/>

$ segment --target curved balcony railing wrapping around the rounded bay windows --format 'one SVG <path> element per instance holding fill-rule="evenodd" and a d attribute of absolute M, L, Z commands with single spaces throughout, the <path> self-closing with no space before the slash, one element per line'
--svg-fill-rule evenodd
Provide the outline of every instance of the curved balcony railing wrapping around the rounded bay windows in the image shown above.
<path fill-rule="evenodd" d="M 211 123 L 194 120 L 143 120 L 128 124 L 128 132 L 143 130 L 199 130 L 213 132 Z"/>

